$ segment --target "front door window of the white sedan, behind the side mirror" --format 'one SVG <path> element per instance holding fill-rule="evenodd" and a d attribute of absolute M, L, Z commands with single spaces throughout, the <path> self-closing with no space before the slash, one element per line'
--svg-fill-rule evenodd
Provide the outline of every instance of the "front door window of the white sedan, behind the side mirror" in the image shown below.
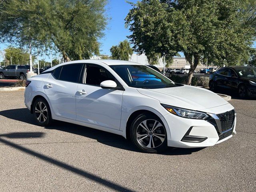
<path fill-rule="evenodd" d="M 118 85 L 118 82 L 114 76 L 106 69 L 97 66 L 88 66 L 86 69 L 86 84 L 100 85 L 102 81 L 112 80 Z"/>

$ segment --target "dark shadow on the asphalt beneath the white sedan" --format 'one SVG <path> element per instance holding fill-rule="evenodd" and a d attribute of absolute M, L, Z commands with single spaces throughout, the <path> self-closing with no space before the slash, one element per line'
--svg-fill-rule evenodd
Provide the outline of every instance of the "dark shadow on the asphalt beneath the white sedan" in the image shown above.
<path fill-rule="evenodd" d="M 27 108 L 19 108 L 19 109 L 11 109 L 0 111 L 0 116 L 4 116 L 6 118 L 10 118 L 13 120 L 25 122 L 32 125 L 38 125 L 36 120 L 34 119 L 33 114 L 30 114 L 30 111 Z M 140 152 L 137 148 L 135 148 L 130 140 L 126 140 L 124 137 L 112 134 L 109 132 L 104 132 L 101 130 L 80 126 L 76 124 L 71 124 L 67 122 L 54 121 L 51 126 L 45 127 L 48 130 L 59 130 L 63 132 L 68 132 L 70 134 L 76 134 L 80 136 L 84 136 L 87 138 L 92 138 L 97 140 L 98 142 L 112 146 L 115 148 L 120 148 L 123 150 L 129 150 L 133 152 Z M 162 155 L 188 155 L 193 152 L 197 152 L 202 150 L 202 148 L 172 148 L 168 147 L 165 152 L 160 154 Z"/>

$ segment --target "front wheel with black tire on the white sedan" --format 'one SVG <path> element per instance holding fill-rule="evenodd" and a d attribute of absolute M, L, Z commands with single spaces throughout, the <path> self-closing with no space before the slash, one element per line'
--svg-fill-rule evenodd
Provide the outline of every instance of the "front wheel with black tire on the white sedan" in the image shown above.
<path fill-rule="evenodd" d="M 158 153 L 167 148 L 167 134 L 162 121 L 151 114 L 140 114 L 130 127 L 134 146 L 146 153 Z"/>

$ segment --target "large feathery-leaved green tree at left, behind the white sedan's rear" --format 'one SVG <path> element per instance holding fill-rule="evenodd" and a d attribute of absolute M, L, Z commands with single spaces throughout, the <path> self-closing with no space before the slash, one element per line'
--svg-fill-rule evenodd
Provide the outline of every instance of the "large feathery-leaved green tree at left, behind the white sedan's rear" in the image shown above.
<path fill-rule="evenodd" d="M 0 38 L 56 49 L 65 61 L 99 54 L 107 0 L 10 0 L 0 3 Z"/>

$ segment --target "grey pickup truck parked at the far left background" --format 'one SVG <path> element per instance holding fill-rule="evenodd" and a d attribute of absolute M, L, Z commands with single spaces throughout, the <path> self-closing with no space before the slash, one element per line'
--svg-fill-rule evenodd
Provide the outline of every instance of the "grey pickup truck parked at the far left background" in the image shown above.
<path fill-rule="evenodd" d="M 8 65 L 4 69 L 0 69 L 0 79 L 5 77 L 18 77 L 22 80 L 26 79 L 27 69 L 25 65 Z"/>

